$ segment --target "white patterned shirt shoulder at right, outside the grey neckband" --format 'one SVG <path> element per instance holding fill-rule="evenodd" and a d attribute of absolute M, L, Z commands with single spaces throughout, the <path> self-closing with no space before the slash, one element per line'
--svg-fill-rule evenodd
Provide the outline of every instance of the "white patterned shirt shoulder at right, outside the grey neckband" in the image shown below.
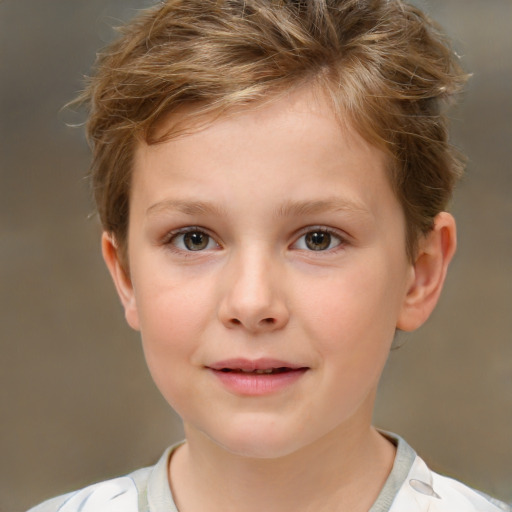
<path fill-rule="evenodd" d="M 389 512 L 512 512 L 512 508 L 446 476 L 416 457 Z"/>

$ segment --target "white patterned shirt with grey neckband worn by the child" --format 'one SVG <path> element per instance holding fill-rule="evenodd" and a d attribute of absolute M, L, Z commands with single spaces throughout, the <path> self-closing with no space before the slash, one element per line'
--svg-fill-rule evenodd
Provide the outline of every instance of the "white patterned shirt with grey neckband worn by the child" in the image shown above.
<path fill-rule="evenodd" d="M 399 436 L 393 469 L 369 512 L 512 512 L 512 508 L 431 471 Z M 28 512 L 179 512 L 167 468 L 178 443 L 155 466 L 45 501 Z"/>

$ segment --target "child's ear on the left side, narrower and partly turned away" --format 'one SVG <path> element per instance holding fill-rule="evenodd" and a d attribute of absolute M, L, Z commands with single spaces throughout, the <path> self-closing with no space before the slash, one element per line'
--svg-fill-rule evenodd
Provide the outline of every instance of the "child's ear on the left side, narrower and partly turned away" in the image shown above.
<path fill-rule="evenodd" d="M 135 330 L 139 330 L 139 314 L 137 312 L 137 303 L 130 276 L 127 275 L 122 264 L 122 258 L 119 249 L 111 233 L 103 232 L 101 237 L 101 250 L 103 259 L 112 276 L 116 286 L 117 294 L 124 307 L 124 315 L 128 325 Z"/>

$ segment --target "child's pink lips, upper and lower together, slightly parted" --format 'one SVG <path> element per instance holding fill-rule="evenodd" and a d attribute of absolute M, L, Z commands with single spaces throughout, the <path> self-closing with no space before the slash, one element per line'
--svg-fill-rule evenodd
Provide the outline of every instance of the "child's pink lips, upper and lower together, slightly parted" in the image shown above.
<path fill-rule="evenodd" d="M 299 381 L 308 367 L 278 359 L 227 359 L 206 368 L 237 395 L 263 396 L 278 393 Z M 249 373 L 273 371 L 272 373 Z"/>

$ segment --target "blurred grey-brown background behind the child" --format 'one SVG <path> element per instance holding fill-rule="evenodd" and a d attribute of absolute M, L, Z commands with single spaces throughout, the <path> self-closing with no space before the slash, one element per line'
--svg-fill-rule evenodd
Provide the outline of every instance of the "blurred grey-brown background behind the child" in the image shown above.
<path fill-rule="evenodd" d="M 0 2 L 0 510 L 152 464 L 182 436 L 100 257 L 83 114 L 61 107 L 143 0 Z M 441 472 L 512 500 L 512 2 L 417 1 L 474 73 L 441 304 L 399 338 L 375 422 Z"/>

